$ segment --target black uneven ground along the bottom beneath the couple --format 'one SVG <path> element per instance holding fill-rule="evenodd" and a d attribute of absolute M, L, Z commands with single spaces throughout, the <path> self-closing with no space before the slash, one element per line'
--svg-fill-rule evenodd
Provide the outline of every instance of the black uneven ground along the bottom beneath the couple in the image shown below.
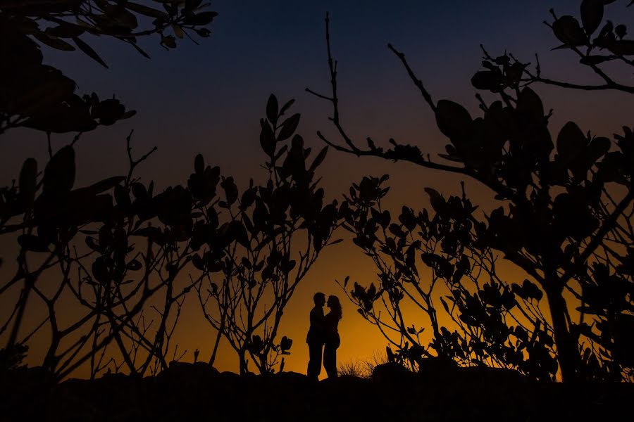
<path fill-rule="evenodd" d="M 318 383 L 299 373 L 238 376 L 174 363 L 158 376 L 54 384 L 37 369 L 0 375 L 0 421 L 613 421 L 631 420 L 630 384 L 531 383 L 495 369 Z"/>

